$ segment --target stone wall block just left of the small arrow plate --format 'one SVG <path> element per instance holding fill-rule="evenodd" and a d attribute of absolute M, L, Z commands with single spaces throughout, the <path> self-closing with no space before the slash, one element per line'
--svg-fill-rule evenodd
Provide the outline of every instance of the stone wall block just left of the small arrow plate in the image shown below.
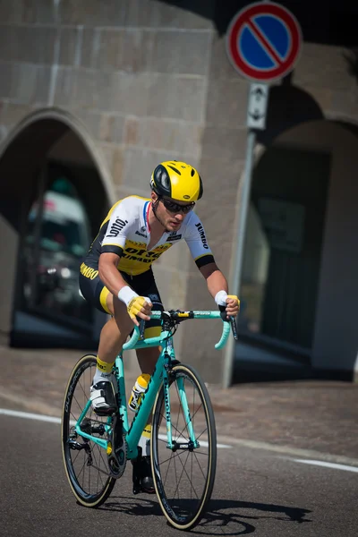
<path fill-rule="evenodd" d="M 207 122 L 215 126 L 244 127 L 246 125 L 249 82 L 212 79 L 209 81 Z"/>

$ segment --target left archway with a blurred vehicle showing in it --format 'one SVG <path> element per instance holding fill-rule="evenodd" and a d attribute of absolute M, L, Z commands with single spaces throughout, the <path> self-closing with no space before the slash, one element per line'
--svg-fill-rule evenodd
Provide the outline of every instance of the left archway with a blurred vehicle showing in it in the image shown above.
<path fill-rule="evenodd" d="M 90 137 L 57 110 L 27 118 L 0 157 L 0 333 L 12 345 L 95 345 L 103 317 L 78 266 L 114 200 Z"/>

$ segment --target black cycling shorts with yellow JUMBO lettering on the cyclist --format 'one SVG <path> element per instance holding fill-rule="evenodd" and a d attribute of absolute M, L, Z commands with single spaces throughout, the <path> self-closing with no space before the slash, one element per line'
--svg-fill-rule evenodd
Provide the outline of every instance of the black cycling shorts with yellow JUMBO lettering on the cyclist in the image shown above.
<path fill-rule="evenodd" d="M 135 293 L 140 296 L 148 296 L 151 303 L 153 304 L 153 311 L 163 311 L 163 304 L 158 292 L 156 280 L 154 279 L 154 274 L 151 268 L 139 274 L 138 276 L 130 276 L 125 272 L 121 271 L 121 275 L 124 278 L 124 281 L 132 288 Z M 107 309 L 107 295 L 110 291 L 104 285 L 102 280 L 98 276 L 98 265 L 91 260 L 86 260 L 81 264 L 80 272 L 80 289 L 83 297 L 90 303 L 92 306 L 97 308 L 99 311 L 108 313 L 111 315 L 110 311 Z M 145 325 L 145 337 L 157 337 L 161 332 L 161 322 L 159 319 L 153 319 L 146 321 Z"/>

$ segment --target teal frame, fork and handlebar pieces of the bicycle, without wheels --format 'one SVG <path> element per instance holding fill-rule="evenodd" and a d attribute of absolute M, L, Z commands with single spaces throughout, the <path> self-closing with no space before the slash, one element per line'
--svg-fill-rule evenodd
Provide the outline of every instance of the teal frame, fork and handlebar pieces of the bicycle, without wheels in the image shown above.
<path fill-rule="evenodd" d="M 162 319 L 162 311 L 152 311 L 151 319 Z M 168 312 L 169 313 L 169 312 Z M 181 311 L 180 317 L 185 319 L 221 319 L 219 311 Z M 223 348 L 226 345 L 226 340 L 230 333 L 230 324 L 228 322 L 223 322 L 223 332 L 220 340 L 215 345 L 216 349 Z M 172 425 L 170 421 L 170 396 L 169 396 L 169 376 L 168 370 L 171 362 L 175 361 L 175 349 L 173 345 L 173 335 L 170 330 L 163 329 L 160 336 L 158 337 L 149 337 L 147 339 L 140 339 L 140 329 L 134 327 L 134 331 L 131 339 L 124 344 L 123 351 L 129 349 L 142 349 L 147 347 L 162 346 L 162 350 L 158 357 L 158 362 L 156 364 L 155 370 L 149 379 L 149 385 L 146 392 L 141 397 L 141 403 L 133 416 L 131 425 L 128 420 L 127 412 L 127 397 L 125 394 L 125 384 L 124 384 L 124 362 L 123 362 L 123 352 L 119 354 L 115 359 L 115 378 L 118 384 L 118 393 L 117 393 L 117 404 L 119 409 L 119 414 L 122 416 L 123 425 L 124 425 L 124 440 L 127 443 L 127 458 L 135 459 L 138 456 L 138 443 L 141 439 L 141 433 L 148 422 L 149 414 L 153 408 L 153 405 L 156 400 L 158 391 L 163 383 L 165 396 L 164 401 L 166 405 L 166 438 L 168 448 L 173 448 L 175 442 L 173 441 L 172 436 Z M 194 447 L 199 447 L 199 442 L 195 438 L 195 433 L 192 428 L 192 418 L 189 411 L 189 406 L 187 404 L 185 389 L 183 387 L 183 379 L 177 379 L 177 385 L 179 389 L 181 403 L 183 405 L 183 413 L 186 417 L 186 422 L 188 424 L 188 432 L 190 435 L 190 440 L 193 443 Z M 84 419 L 86 413 L 90 409 L 90 399 L 85 405 L 81 416 L 75 424 L 76 432 L 85 439 L 90 439 L 92 442 L 98 444 L 98 446 L 103 447 L 107 454 L 110 453 L 112 446 L 110 442 L 105 439 L 100 439 L 94 437 L 83 430 L 81 430 L 81 422 Z M 110 432 L 112 429 L 112 418 L 107 419 L 107 432 Z M 115 446 L 113 447 L 115 448 Z"/>

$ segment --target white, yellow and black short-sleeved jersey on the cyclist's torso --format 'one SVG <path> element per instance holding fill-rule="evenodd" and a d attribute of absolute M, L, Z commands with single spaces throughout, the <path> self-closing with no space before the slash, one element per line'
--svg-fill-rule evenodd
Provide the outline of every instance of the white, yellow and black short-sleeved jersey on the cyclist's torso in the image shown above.
<path fill-rule="evenodd" d="M 184 216 L 178 231 L 165 232 L 158 243 L 148 250 L 150 203 L 151 200 L 139 196 L 117 201 L 109 210 L 90 246 L 83 270 L 87 269 L 87 265 L 95 271 L 100 254 L 112 252 L 120 256 L 118 270 L 137 276 L 149 270 L 164 251 L 181 240 L 188 244 L 198 268 L 214 262 L 204 228 L 194 212 Z M 91 277 L 90 274 L 85 276 Z"/>

